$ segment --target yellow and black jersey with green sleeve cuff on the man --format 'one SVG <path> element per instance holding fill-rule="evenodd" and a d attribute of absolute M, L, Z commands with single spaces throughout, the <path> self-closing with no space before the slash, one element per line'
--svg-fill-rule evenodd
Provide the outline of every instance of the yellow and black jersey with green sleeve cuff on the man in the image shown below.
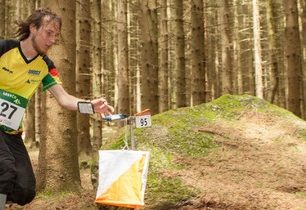
<path fill-rule="evenodd" d="M 13 119 L 14 114 L 26 108 L 41 83 L 43 90 L 61 83 L 54 63 L 46 55 L 26 58 L 17 40 L 0 40 L 0 130 L 20 129 L 19 126 L 12 129 L 19 121 L 19 118 Z M 17 111 L 14 111 L 14 106 Z M 7 124 L 3 123 L 3 118 Z"/>

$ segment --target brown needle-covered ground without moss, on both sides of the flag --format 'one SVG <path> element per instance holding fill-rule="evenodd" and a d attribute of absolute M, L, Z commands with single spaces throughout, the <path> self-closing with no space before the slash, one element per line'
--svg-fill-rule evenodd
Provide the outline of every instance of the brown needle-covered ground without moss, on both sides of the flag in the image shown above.
<path fill-rule="evenodd" d="M 306 209 L 305 121 L 252 109 L 241 112 L 235 121 L 219 119 L 194 129 L 213 135 L 218 148 L 201 158 L 177 155 L 174 161 L 185 167 L 165 169 L 161 174 L 170 179 L 179 177 L 187 186 L 195 187 L 197 195 L 175 206 L 151 209 Z M 32 151 L 31 157 L 35 167 L 37 151 Z M 90 173 L 81 173 L 84 191 L 80 194 L 38 195 L 31 204 L 8 209 L 98 209 Z"/>

